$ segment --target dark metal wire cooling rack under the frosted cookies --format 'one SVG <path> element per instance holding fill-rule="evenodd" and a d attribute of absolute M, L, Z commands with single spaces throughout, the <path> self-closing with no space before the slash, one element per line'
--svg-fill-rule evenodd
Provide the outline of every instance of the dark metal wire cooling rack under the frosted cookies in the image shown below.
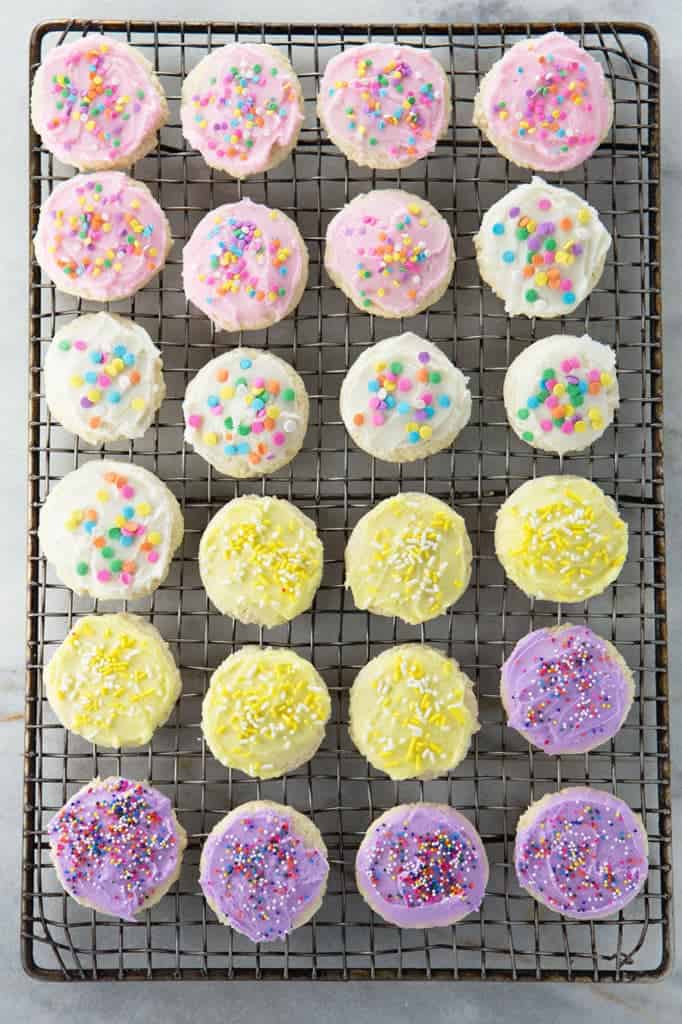
<path fill-rule="evenodd" d="M 97 608 L 62 587 L 40 556 L 38 514 L 50 487 L 70 469 L 102 456 L 65 432 L 44 402 L 43 356 L 55 330 L 81 309 L 31 265 L 29 651 L 24 821 L 23 955 L 27 970 L 49 979 L 312 978 L 538 979 L 632 981 L 660 977 L 671 963 L 671 821 L 662 452 L 658 51 L 637 25 L 556 26 L 602 62 L 615 97 L 606 141 L 583 167 L 558 179 L 600 211 L 613 234 L 606 270 L 588 301 L 561 322 L 509 319 L 476 271 L 472 236 L 493 202 L 527 172 L 510 167 L 471 127 L 473 96 L 485 71 L 518 39 L 551 26 L 231 26 L 178 23 L 52 22 L 31 42 L 31 72 L 50 47 L 86 32 L 106 32 L 141 48 L 161 74 L 171 121 L 161 145 L 139 162 L 167 212 L 176 239 L 165 270 L 133 299 L 113 308 L 133 315 L 158 340 L 169 396 L 156 425 L 108 455 L 159 474 L 185 517 L 182 548 L 166 584 L 131 604 L 172 644 L 183 692 L 170 722 L 147 748 L 112 754 L 66 732 L 43 688 L 43 666 L 74 620 Z M 427 47 L 446 69 L 454 128 L 427 160 L 402 172 L 370 172 L 349 164 L 319 130 L 314 97 L 321 73 L 340 47 L 368 39 Z M 306 121 L 283 165 L 239 184 L 187 151 L 179 130 L 183 76 L 212 48 L 231 40 L 269 42 L 286 51 L 301 78 Z M 31 134 L 31 231 L 61 167 Z M 451 223 L 457 267 L 445 296 L 407 321 L 442 346 L 470 378 L 470 424 L 454 451 L 402 467 L 374 462 L 348 440 L 338 391 L 363 348 L 397 333 L 392 322 L 357 312 L 323 269 L 322 248 L 333 214 L 358 193 L 399 184 L 427 197 Z M 215 475 L 182 443 L 180 401 L 187 380 L 209 358 L 243 339 L 215 335 L 185 302 L 181 248 L 204 213 L 246 195 L 295 217 L 310 250 L 310 280 L 296 313 L 248 335 L 296 366 L 311 398 L 303 453 L 258 482 Z M 587 454 L 536 453 L 508 428 L 502 382 L 511 359 L 531 340 L 589 331 L 615 346 L 623 402 L 615 425 Z M 246 338 L 244 339 L 247 340 Z M 561 606 L 531 601 L 510 585 L 493 547 L 495 514 L 504 498 L 534 475 L 568 471 L 612 495 L 630 527 L 630 553 L 617 582 L 570 618 L 589 623 L 617 644 L 634 672 L 635 703 L 619 735 L 586 756 L 552 759 L 534 752 L 504 725 L 499 670 L 528 630 L 565 621 Z M 471 585 L 447 615 L 423 627 L 354 608 L 343 590 L 349 530 L 377 501 L 424 489 L 464 515 L 475 558 Z M 230 498 L 256 492 L 295 502 L 317 521 L 325 575 L 312 610 L 288 627 L 249 628 L 219 615 L 204 593 L 197 551 L 209 518 Z M 106 605 L 111 610 L 111 604 Z M 475 680 L 482 729 L 470 756 L 447 778 L 389 781 L 358 756 L 347 732 L 348 688 L 370 657 L 392 644 L 426 640 L 453 654 Z M 222 768 L 199 728 L 202 696 L 213 669 L 245 642 L 292 646 L 322 672 L 333 696 L 326 740 L 312 763 L 286 778 L 258 782 Z M 138 924 L 102 918 L 69 899 L 46 854 L 46 825 L 94 775 L 148 778 L 173 800 L 189 834 L 179 882 Z M 644 817 L 651 869 L 642 894 L 617 918 L 578 923 L 534 902 L 517 885 L 516 819 L 531 800 L 561 785 L 594 784 L 616 793 Z M 219 925 L 201 898 L 202 842 L 235 805 L 270 798 L 311 815 L 331 857 L 329 893 L 309 924 L 288 941 L 256 946 Z M 355 889 L 358 843 L 379 813 L 410 800 L 449 802 L 482 835 L 491 881 L 480 912 L 454 928 L 399 931 L 369 910 Z"/>

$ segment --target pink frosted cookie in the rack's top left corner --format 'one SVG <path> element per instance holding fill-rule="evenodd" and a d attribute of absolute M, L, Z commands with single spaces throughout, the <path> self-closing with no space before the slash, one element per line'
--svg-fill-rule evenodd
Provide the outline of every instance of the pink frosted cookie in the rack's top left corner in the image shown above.
<path fill-rule="evenodd" d="M 80 171 L 130 167 L 157 144 L 166 96 L 132 46 L 85 36 L 56 46 L 33 80 L 33 127 L 63 164 Z"/>

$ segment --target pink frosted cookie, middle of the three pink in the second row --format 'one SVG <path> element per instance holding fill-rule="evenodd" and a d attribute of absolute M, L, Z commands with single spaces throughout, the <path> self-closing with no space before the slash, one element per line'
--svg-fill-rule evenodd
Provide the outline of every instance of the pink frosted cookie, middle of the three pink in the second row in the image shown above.
<path fill-rule="evenodd" d="M 220 331 L 258 331 L 288 316 L 308 280 L 308 251 L 280 210 L 250 199 L 211 210 L 182 250 L 190 302 Z"/>

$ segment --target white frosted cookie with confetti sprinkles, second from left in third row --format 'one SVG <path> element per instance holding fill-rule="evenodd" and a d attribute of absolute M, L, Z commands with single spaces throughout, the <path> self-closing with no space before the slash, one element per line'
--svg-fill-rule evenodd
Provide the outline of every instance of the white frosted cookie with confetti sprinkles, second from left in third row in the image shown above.
<path fill-rule="evenodd" d="M 258 348 L 232 348 L 187 385 L 184 439 L 225 476 L 264 476 L 294 458 L 308 396 L 293 367 Z"/>

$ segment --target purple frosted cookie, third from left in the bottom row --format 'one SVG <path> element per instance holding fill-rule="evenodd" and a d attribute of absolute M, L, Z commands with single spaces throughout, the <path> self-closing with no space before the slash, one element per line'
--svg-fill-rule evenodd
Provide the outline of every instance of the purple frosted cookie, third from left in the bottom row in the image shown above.
<path fill-rule="evenodd" d="M 355 881 L 375 913 L 397 928 L 444 928 L 475 912 L 487 857 L 471 822 L 445 804 L 402 804 L 368 828 Z"/>

